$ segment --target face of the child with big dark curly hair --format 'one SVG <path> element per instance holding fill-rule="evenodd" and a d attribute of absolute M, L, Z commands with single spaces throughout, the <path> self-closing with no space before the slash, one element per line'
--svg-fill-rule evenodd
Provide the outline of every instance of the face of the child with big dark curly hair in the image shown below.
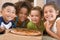
<path fill-rule="evenodd" d="M 27 19 L 27 12 L 28 12 L 27 8 L 22 7 L 20 9 L 20 12 L 18 13 L 18 17 L 21 22 Z"/>

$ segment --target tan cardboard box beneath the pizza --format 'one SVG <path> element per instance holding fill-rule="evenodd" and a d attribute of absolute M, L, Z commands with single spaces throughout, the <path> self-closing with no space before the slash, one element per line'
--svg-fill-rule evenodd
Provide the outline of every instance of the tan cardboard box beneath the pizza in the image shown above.
<path fill-rule="evenodd" d="M 9 33 L 6 30 L 5 34 L 0 35 L 0 40 L 42 40 L 42 36 L 22 36 Z"/>

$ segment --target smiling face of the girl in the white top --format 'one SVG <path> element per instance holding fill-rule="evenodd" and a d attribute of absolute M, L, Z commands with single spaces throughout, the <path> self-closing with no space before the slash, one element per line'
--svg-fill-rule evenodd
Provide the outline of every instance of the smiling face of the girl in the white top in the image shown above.
<path fill-rule="evenodd" d="M 44 8 L 44 18 L 48 21 L 54 21 L 58 12 L 50 5 Z"/>

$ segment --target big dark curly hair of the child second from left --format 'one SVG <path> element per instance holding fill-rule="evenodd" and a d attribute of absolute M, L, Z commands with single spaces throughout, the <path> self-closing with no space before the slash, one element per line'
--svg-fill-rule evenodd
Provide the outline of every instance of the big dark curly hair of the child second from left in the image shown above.
<path fill-rule="evenodd" d="M 27 10 L 28 10 L 27 13 L 29 13 L 32 8 L 32 5 L 28 1 L 19 1 L 19 2 L 16 2 L 15 5 L 16 5 L 16 9 L 17 9 L 17 14 L 19 13 L 19 10 L 22 7 L 27 8 Z"/>

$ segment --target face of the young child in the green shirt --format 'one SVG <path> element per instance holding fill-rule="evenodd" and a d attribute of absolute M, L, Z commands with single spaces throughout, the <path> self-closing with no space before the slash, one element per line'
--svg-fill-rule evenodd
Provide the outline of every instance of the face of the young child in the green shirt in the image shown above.
<path fill-rule="evenodd" d="M 40 12 L 38 10 L 32 10 L 30 17 L 33 23 L 38 24 L 40 22 Z"/>

